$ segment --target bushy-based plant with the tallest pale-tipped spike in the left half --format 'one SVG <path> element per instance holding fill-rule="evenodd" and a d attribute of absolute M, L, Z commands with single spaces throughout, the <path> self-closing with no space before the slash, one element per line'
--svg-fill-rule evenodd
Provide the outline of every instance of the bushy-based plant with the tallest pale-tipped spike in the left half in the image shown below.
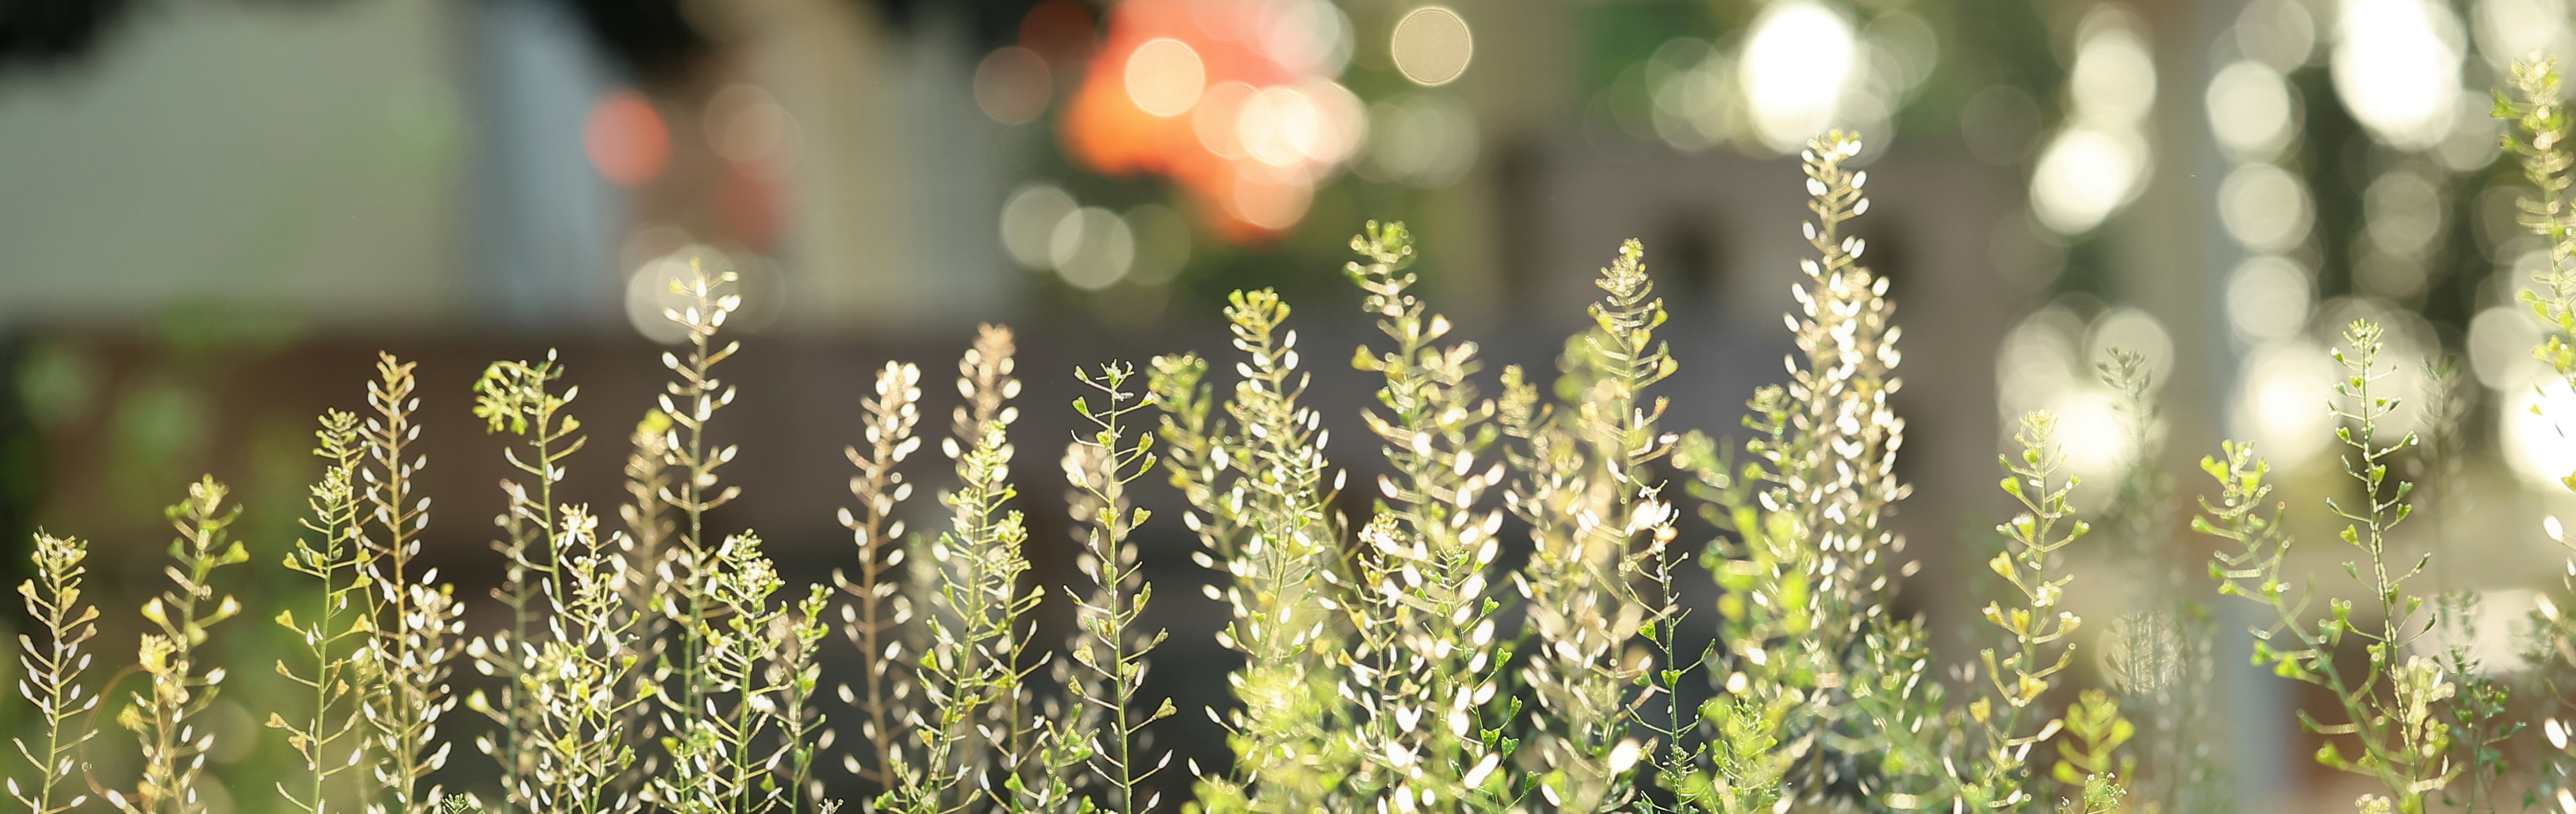
<path fill-rule="evenodd" d="M 595 693 L 595 711 L 582 711 L 569 726 L 556 726 L 549 737 L 592 739 L 590 765 L 580 768 L 590 786 L 567 786 L 580 793 L 603 793 L 636 762 L 621 737 L 634 737 L 618 716 L 641 698 L 662 698 L 662 750 L 670 755 L 667 773 L 649 773 L 647 793 L 634 804 L 652 804 L 680 814 L 755 814 L 796 809 L 809 793 L 806 781 L 814 765 L 814 714 L 811 698 L 819 680 L 814 649 L 822 641 L 822 610 L 827 592 L 809 585 L 806 598 L 793 605 L 773 603 L 786 587 L 778 567 L 768 559 L 757 533 L 734 533 L 716 546 L 706 546 L 706 513 L 742 495 L 739 487 L 719 484 L 716 469 L 734 461 L 737 446 L 708 446 L 706 428 L 716 410 L 734 402 L 737 389 L 714 376 L 716 363 L 732 358 L 742 343 L 716 348 L 724 322 L 742 307 L 742 296 L 726 291 L 734 273 L 708 276 L 693 268 L 690 278 L 672 281 L 670 291 L 688 299 L 685 307 L 665 309 L 665 317 L 683 327 L 690 353 L 683 361 L 662 353 L 662 366 L 677 374 L 659 397 L 659 420 L 647 417 L 639 433 L 670 428 L 659 440 L 639 443 L 639 459 L 659 451 L 659 466 L 649 461 L 629 464 L 631 525 L 652 533 L 662 531 L 662 510 L 677 510 L 685 523 L 672 523 L 680 533 L 677 549 L 621 546 L 647 551 L 662 587 L 644 610 L 670 621 L 680 636 L 677 665 L 657 662 L 644 667 L 649 647 L 636 644 L 636 621 L 613 608 L 608 595 L 616 585 L 634 580 L 626 574 L 629 559 L 585 554 L 587 569 L 600 574 L 595 618 L 580 634 L 559 634 L 572 649 L 569 659 L 590 675 L 585 690 Z M 567 394 L 569 402 L 569 394 Z M 544 428 L 544 425 L 538 425 Z M 569 428 L 564 430 L 569 433 Z M 680 487 L 659 487 L 667 471 L 680 471 Z M 647 500 L 644 495 L 652 492 Z M 562 559 L 556 559 L 562 562 Z M 551 595 L 562 595 L 554 590 Z M 559 610 L 562 613 L 562 610 Z M 649 629 L 652 631 L 652 629 Z M 580 755 L 574 755 L 580 757 Z M 574 760 L 567 757 L 567 760 Z M 608 809 L 626 809 L 626 799 L 605 801 Z"/>

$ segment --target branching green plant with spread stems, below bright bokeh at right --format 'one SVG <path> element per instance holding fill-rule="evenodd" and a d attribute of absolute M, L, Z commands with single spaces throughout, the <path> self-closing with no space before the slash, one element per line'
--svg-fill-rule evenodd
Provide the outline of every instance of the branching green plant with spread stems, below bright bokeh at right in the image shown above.
<path fill-rule="evenodd" d="M 2398 654 L 2427 629 L 2416 621 L 2424 598 L 2409 595 L 2406 580 L 2421 574 L 2432 559 L 2424 554 L 2414 567 L 2391 567 L 2388 551 L 2388 528 L 2406 520 L 2406 492 L 2411 492 L 2403 479 L 2391 484 L 2388 456 L 2411 446 L 2414 433 L 2393 446 L 2383 446 L 2378 438 L 2380 420 L 2398 410 L 2398 399 L 2372 392 L 2372 384 L 2388 376 L 2388 368 L 2378 363 L 2383 330 L 2354 319 L 2344 327 L 2344 345 L 2334 350 L 2347 371 L 2336 384 L 2342 402 L 2331 404 L 2342 420 L 2334 435 L 2347 446 L 2344 474 L 2360 484 L 2365 505 L 2357 510 L 2334 500 L 2326 505 L 2349 520 L 2342 538 L 2362 559 L 2344 562 L 2344 572 L 2380 605 L 2378 629 L 2354 623 L 2349 600 L 2329 598 L 2329 616 L 2308 618 L 2316 590 L 2311 585 L 2293 595 L 2282 569 L 2290 538 L 2280 531 L 2280 513 L 2267 515 L 2262 507 L 2272 492 L 2264 484 L 2269 466 L 2254 459 L 2251 446 L 2226 443 L 2221 459 L 2202 459 L 2200 469 L 2218 479 L 2223 497 L 2215 505 L 2202 500 L 2202 515 L 2192 518 L 2192 528 L 2239 546 L 2239 551 L 2218 551 L 2210 564 L 2218 592 L 2262 603 L 2275 616 L 2272 623 L 2254 629 L 2254 659 L 2272 667 L 2275 675 L 2318 685 L 2342 703 L 2344 724 L 2324 724 L 2308 711 L 2298 711 L 2298 719 L 2308 732 L 2352 737 L 2362 755 L 2347 757 L 2329 739 L 2316 760 L 2380 781 L 2388 799 L 2375 804 L 2414 814 L 2424 811 L 2427 793 L 2460 775 L 2460 768 L 2445 760 L 2450 726 L 2432 708 L 2452 698 L 2458 685 L 2442 675 L 2434 659 L 2409 657 L 2398 662 Z M 2280 634 L 2290 634 L 2287 641 Z M 2367 654 L 2360 675 L 2347 675 L 2334 659 L 2347 636 L 2357 639 Z"/>

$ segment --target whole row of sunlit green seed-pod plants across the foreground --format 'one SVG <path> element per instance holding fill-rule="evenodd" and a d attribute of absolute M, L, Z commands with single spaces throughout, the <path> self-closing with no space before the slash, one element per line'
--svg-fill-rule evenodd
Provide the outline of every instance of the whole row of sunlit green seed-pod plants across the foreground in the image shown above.
<path fill-rule="evenodd" d="M 2512 147 L 2537 188 L 2524 222 L 2553 245 L 2530 294 L 2553 325 L 2535 353 L 2576 384 L 2576 162 L 2555 75 L 2527 64 L 2514 82 L 2499 116 L 2517 121 Z M 708 515 L 739 497 L 721 477 L 739 448 L 711 428 L 737 394 L 719 366 L 739 350 L 724 327 L 742 299 L 732 276 L 693 273 L 672 283 L 683 304 L 667 317 L 685 345 L 662 355 L 672 381 L 626 438 L 616 528 L 559 500 L 587 443 L 562 361 L 500 361 L 477 379 L 471 412 L 510 435 L 513 477 L 495 518 L 505 580 L 492 600 L 507 621 L 469 634 L 453 585 L 417 564 L 430 523 L 415 489 L 422 397 L 412 366 L 386 355 L 368 412 L 330 410 L 314 433 L 312 538 L 283 559 L 309 580 L 309 605 L 276 618 L 299 641 L 276 665 L 299 701 L 268 714 L 299 770 L 276 791 L 312 814 L 1172 809 L 1154 791 L 1172 752 L 1149 729 L 1180 711 L 1146 690 L 1167 634 L 1151 629 L 1136 546 L 1154 513 L 1131 489 L 1159 471 L 1185 500 L 1203 592 L 1229 613 L 1216 644 L 1242 659 L 1224 675 L 1231 701 L 1203 711 L 1229 755 L 1185 760 L 1185 811 L 2223 806 L 2205 719 L 2213 613 L 2156 554 L 2174 484 L 2154 464 L 2164 425 L 2141 355 L 2102 363 L 2130 448 L 2110 510 L 2076 510 L 2058 420 L 2020 420 L 1999 461 L 2012 518 L 1981 554 L 1999 582 L 1976 657 L 1945 675 L 1927 621 L 1899 610 L 1896 590 L 1919 569 L 1893 520 L 1911 492 L 1896 459 L 1904 355 L 1888 281 L 1850 232 L 1870 206 L 1857 155 L 1839 131 L 1801 152 L 1811 255 L 1785 314 L 1795 353 L 1788 381 L 1747 402 L 1749 440 L 1669 428 L 1659 384 L 1685 361 L 1659 335 L 1669 314 L 1638 242 L 1600 270 L 1589 325 L 1553 374 L 1504 366 L 1486 379 L 1476 343 L 1422 296 L 1412 232 L 1370 222 L 1345 268 L 1383 335 L 1350 355 L 1376 376 L 1360 420 L 1383 466 L 1358 487 L 1365 515 L 1350 515 L 1352 469 L 1327 456 L 1306 399 L 1316 374 L 1291 307 L 1236 291 L 1224 361 L 1074 371 L 1087 430 L 1061 474 L 1077 585 L 1030 580 L 1046 541 L 1030 538 L 1012 477 L 1018 348 L 989 325 L 958 363 L 961 404 L 938 446 L 953 482 L 935 495 L 935 528 L 912 533 L 904 518 L 907 466 L 925 446 L 922 371 L 886 363 L 858 404 L 855 505 L 840 510 L 855 562 L 832 587 L 793 590 L 755 531 L 716 536 Z M 2427 639 L 2473 605 L 2416 592 L 2432 554 L 2393 538 L 2414 510 L 2398 471 L 2419 438 L 2393 430 L 2409 402 L 2388 392 L 2383 350 L 2383 327 L 2349 325 L 2329 404 L 2349 487 L 2326 507 L 2367 600 L 2293 572 L 2285 507 L 2246 443 L 2202 461 L 2218 492 L 2190 528 L 2226 544 L 2208 569 L 2218 595 L 2267 610 L 2251 657 L 2334 698 L 2298 721 L 2324 765 L 2380 786 L 2362 811 L 2494 811 L 2522 783 L 2506 773 L 2517 685 Z M 2455 412 L 2445 399 L 2434 392 L 2434 428 Z M 229 538 L 234 510 L 211 479 L 170 520 L 173 587 L 139 613 L 144 688 L 113 714 L 139 744 L 131 788 L 106 788 L 82 757 L 108 696 L 88 670 L 88 544 L 36 538 L 36 577 L 21 585 L 36 621 L 21 636 L 21 696 L 36 726 L 15 739 L 28 773 L 8 783 L 33 814 L 90 799 L 126 814 L 206 809 L 204 714 L 227 680 L 209 641 L 240 613 L 216 580 L 250 549 Z M 2555 520 L 2548 531 L 2563 538 Z M 2146 585 L 2107 634 L 2081 634 L 2102 626 L 2069 603 L 2087 562 Z M 1038 623 L 1054 603 L 1069 631 Z M 2553 667 L 2537 675 L 2540 698 L 2561 703 L 2576 621 L 2553 608 L 2540 623 Z M 827 680 L 835 631 L 860 670 Z M 2099 677 L 2079 647 L 2107 652 Z M 451 690 L 456 667 L 482 688 Z M 824 688 L 848 719 L 822 716 Z M 487 724 L 448 734 L 459 706 Z M 2543 719 L 2550 757 L 2524 786 L 2576 811 L 2568 729 Z M 459 737 L 492 760 L 497 796 L 433 781 Z"/>

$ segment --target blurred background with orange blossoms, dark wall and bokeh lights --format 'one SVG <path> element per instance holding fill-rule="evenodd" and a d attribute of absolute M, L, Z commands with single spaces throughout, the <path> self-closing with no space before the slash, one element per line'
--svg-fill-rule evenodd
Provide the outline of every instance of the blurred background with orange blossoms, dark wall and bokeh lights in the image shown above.
<path fill-rule="evenodd" d="M 1072 368 L 1226 353 L 1224 294 L 1257 286 L 1342 358 L 1373 337 L 1340 276 L 1365 219 L 1414 227 L 1435 307 L 1492 368 L 1551 366 L 1592 273 L 1641 237 L 1674 312 L 1672 422 L 1741 435 L 1793 350 L 1793 152 L 1842 126 L 1868 139 L 1857 234 L 1909 350 L 1899 520 L 1927 569 L 1901 605 L 1945 659 L 1986 636 L 1963 574 L 2007 515 L 1991 456 L 2025 410 L 2063 415 L 2087 510 L 2141 461 L 2197 495 L 2197 456 L 2259 440 L 2339 585 L 2324 348 L 2370 317 L 2396 386 L 2458 404 L 2403 412 L 2458 453 L 2406 464 L 2437 482 L 2401 544 L 2486 598 L 2476 649 L 2517 670 L 2512 621 L 2566 559 L 2540 515 L 2568 510 L 2576 469 L 2532 412 L 2576 392 L 2527 353 L 2512 299 L 2545 247 L 2514 224 L 2488 118 L 2532 52 L 2576 54 L 2563 0 L 0 0 L 0 533 L 98 541 L 98 649 L 121 657 L 160 507 L 214 471 L 260 551 L 234 574 L 255 608 L 216 639 L 232 665 L 273 659 L 289 641 L 260 608 L 301 590 L 270 564 L 319 471 L 312 415 L 358 407 L 381 348 L 422 363 L 433 559 L 482 598 L 505 464 L 469 381 L 562 348 L 598 435 L 572 489 L 611 505 L 677 340 L 662 286 L 706 263 L 742 276 L 750 345 L 716 430 L 747 497 L 719 525 L 824 582 L 850 562 L 840 446 L 871 371 L 917 361 L 938 384 L 976 322 L 1007 322 L 1033 556 L 1061 582 Z M 2156 456 L 2094 384 L 2115 345 L 2159 371 Z M 2424 374 L 2442 358 L 2447 392 Z M 1321 363 L 1311 399 L 1360 440 L 1370 389 Z M 935 433 L 953 397 L 927 392 Z M 2197 574 L 2182 505 L 2159 544 Z M 1190 536 L 1159 525 L 1154 580 L 1198 582 Z M 2143 580 L 2097 567 L 2079 605 L 2115 613 Z M 1162 598 L 1157 688 L 1218 703 L 1216 605 Z M 2347 806 L 2306 760 L 2300 698 L 2246 675 L 2239 639 L 2215 649 L 2239 804 Z M 252 711 L 276 693 L 227 685 L 219 811 L 270 809 L 258 778 L 286 750 Z M 1221 750 L 1195 711 L 1159 726 Z"/>

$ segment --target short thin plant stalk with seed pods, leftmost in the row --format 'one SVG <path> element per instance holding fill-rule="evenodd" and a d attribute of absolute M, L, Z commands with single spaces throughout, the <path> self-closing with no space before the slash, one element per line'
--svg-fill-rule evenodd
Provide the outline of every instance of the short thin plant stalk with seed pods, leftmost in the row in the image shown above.
<path fill-rule="evenodd" d="M 80 603 L 80 582 L 90 572 L 82 564 L 90 559 L 88 541 L 39 531 L 36 551 L 28 559 L 36 562 L 36 577 L 18 582 L 18 595 L 26 598 L 26 613 L 44 626 L 44 647 L 33 636 L 18 634 L 18 667 L 26 670 L 18 696 L 36 706 L 44 737 L 41 747 L 28 747 L 26 737 L 10 739 L 36 778 L 31 786 L 18 786 L 18 778 L 10 775 L 8 793 L 28 814 L 57 814 L 80 809 L 90 799 L 88 793 L 62 799 L 62 783 L 72 778 L 72 755 L 90 737 L 98 737 L 88 719 L 72 721 L 98 708 L 98 693 L 80 685 L 80 675 L 90 670 L 90 654 L 80 647 L 98 636 L 98 605 Z"/>

